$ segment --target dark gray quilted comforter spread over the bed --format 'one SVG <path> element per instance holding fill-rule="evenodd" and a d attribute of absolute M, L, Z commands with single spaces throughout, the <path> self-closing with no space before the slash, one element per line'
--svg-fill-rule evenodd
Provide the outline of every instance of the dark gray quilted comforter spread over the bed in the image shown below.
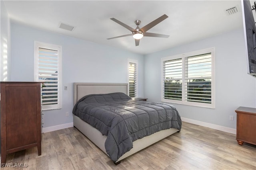
<path fill-rule="evenodd" d="M 84 96 L 73 109 L 102 135 L 106 135 L 105 149 L 116 161 L 132 149 L 132 142 L 158 131 L 181 129 L 181 119 L 174 106 L 132 100 L 124 93 Z"/>

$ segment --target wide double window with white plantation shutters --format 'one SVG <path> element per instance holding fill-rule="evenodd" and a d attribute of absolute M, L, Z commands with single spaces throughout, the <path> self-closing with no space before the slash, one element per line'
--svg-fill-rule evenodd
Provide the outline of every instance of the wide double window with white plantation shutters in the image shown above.
<path fill-rule="evenodd" d="M 162 102 L 215 107 L 214 48 L 162 58 Z"/>

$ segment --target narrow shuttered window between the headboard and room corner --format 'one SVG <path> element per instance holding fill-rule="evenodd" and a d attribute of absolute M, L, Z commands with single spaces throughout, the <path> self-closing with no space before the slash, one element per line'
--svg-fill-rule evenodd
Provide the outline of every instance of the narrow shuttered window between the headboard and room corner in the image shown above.
<path fill-rule="evenodd" d="M 129 96 L 131 98 L 137 97 L 138 90 L 138 61 L 128 59 L 128 82 L 129 82 Z"/>

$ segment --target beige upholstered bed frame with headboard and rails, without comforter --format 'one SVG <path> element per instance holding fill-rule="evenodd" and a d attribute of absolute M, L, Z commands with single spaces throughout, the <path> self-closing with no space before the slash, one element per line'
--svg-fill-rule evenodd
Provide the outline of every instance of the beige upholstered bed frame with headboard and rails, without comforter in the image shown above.
<path fill-rule="evenodd" d="M 126 83 L 74 83 L 74 105 L 78 100 L 89 94 L 107 94 L 114 92 L 123 92 L 128 94 L 128 84 Z M 100 131 L 92 127 L 88 123 L 84 122 L 82 119 L 74 116 L 74 127 L 81 131 L 88 139 L 90 139 L 96 146 L 98 146 L 103 152 L 106 153 L 105 141 L 106 136 L 102 135 Z M 173 133 L 176 133 L 178 129 L 171 128 L 163 131 L 159 131 L 150 136 L 138 139 L 133 142 L 133 148 L 122 155 L 115 164 L 120 163 L 120 160 L 142 150 L 161 139 L 164 139 Z M 107 154 L 107 153 L 106 153 Z"/>

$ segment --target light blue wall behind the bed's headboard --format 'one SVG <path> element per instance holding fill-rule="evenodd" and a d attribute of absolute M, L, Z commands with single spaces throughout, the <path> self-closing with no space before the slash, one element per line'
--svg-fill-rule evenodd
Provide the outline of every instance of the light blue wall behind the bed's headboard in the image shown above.
<path fill-rule="evenodd" d="M 127 83 L 128 58 L 138 60 L 138 96 L 144 97 L 142 55 L 14 22 L 11 22 L 11 39 L 12 81 L 34 80 L 34 41 L 62 46 L 62 109 L 44 111 L 44 127 L 73 122 L 73 82 Z"/>

